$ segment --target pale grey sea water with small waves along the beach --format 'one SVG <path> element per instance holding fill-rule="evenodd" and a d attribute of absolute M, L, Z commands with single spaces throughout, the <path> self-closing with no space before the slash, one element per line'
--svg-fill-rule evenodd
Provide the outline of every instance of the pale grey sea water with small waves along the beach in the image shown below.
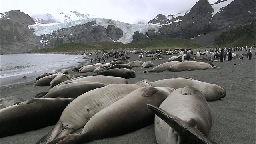
<path fill-rule="evenodd" d="M 10 54 L 0 55 L 0 78 L 57 70 L 88 63 L 87 56 L 67 54 Z"/>

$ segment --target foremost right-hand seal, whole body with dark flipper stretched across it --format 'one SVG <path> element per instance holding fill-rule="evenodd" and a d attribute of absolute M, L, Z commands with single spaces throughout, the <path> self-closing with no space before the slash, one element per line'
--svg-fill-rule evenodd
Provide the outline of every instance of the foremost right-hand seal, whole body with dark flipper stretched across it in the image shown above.
<path fill-rule="evenodd" d="M 212 128 L 210 106 L 195 87 L 178 88 L 159 108 L 150 104 L 148 108 L 157 115 L 155 135 L 158 144 L 216 144 L 208 138 Z"/>

